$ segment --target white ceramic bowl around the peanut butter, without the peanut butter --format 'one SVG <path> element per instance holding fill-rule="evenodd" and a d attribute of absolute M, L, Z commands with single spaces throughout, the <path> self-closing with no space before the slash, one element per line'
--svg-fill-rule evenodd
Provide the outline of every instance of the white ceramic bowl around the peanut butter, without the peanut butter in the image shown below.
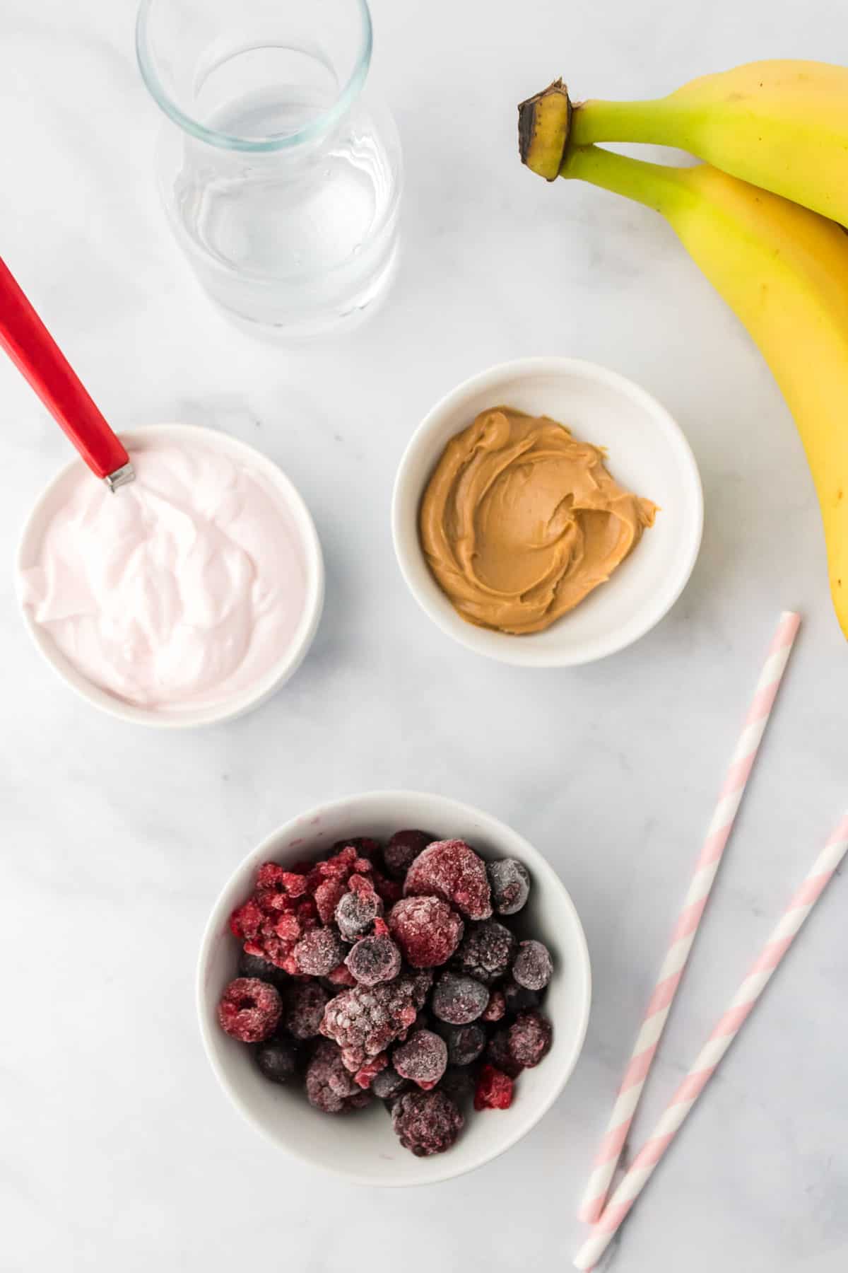
<path fill-rule="evenodd" d="M 660 505 L 631 556 L 571 614 L 521 636 L 467 622 L 430 573 L 418 508 L 446 443 L 492 406 L 548 415 L 606 447 L 613 476 Z M 632 381 L 573 358 L 525 358 L 474 376 L 425 418 L 406 449 L 392 507 L 394 550 L 422 610 L 460 645 L 529 667 L 590 663 L 643 636 L 683 592 L 701 546 L 703 493 L 692 448 L 669 412 Z"/>

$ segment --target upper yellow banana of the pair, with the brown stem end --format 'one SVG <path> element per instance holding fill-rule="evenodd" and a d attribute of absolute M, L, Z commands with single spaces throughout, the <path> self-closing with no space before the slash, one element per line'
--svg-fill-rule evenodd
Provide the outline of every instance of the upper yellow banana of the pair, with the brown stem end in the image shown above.
<path fill-rule="evenodd" d="M 556 88 L 559 95 L 566 92 L 562 81 Z M 848 225 L 848 67 L 793 60 L 749 62 L 703 75 L 667 97 L 589 101 L 557 116 L 542 101 L 544 127 L 534 130 L 533 103 L 543 98 L 538 94 L 519 108 L 528 148 L 534 132 L 539 141 L 544 139 L 547 154 L 539 155 L 537 168 L 542 176 L 556 176 L 551 155 L 558 146 L 562 157 L 567 143 L 648 141 L 689 150 L 723 172 Z"/>

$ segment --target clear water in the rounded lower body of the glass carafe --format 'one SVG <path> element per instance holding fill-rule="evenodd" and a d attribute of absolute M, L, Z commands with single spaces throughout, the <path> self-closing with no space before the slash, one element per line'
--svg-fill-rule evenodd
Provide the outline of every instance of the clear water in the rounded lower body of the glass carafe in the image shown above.
<path fill-rule="evenodd" d="M 242 139 L 287 137 L 320 121 L 337 97 L 327 64 L 301 53 L 296 80 L 238 92 L 207 126 Z M 397 255 L 392 127 L 357 102 L 328 132 L 281 150 L 187 139 L 172 210 L 214 298 L 292 332 L 320 331 L 369 306 Z"/>

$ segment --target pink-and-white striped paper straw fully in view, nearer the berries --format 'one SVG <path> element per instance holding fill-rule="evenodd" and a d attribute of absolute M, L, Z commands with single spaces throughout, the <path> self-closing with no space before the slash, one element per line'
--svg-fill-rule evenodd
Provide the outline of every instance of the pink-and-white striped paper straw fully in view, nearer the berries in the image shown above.
<path fill-rule="evenodd" d="M 653 1055 L 660 1045 L 662 1030 L 667 1020 L 680 979 L 683 978 L 692 943 L 698 932 L 701 917 L 709 899 L 709 890 L 718 872 L 725 845 L 730 839 L 736 811 L 741 803 L 745 784 L 754 768 L 754 760 L 768 724 L 768 718 L 777 698 L 790 651 L 798 631 L 801 619 L 784 610 L 777 631 L 768 648 L 765 663 L 756 682 L 756 691 L 749 708 L 742 732 L 736 743 L 730 769 L 718 794 L 718 803 L 701 848 L 689 891 L 678 915 L 671 933 L 669 950 L 660 967 L 648 1001 L 642 1026 L 624 1071 L 622 1086 L 618 1090 L 615 1105 L 610 1114 L 606 1134 L 600 1143 L 592 1166 L 589 1184 L 580 1206 L 578 1216 L 587 1223 L 594 1223 L 604 1209 L 604 1200 L 618 1164 L 636 1108 L 647 1081 Z"/>

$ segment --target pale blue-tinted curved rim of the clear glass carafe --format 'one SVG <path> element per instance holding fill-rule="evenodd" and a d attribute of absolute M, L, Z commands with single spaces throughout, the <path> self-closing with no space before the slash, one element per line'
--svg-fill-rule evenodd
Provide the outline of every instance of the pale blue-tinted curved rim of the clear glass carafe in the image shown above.
<path fill-rule="evenodd" d="M 200 120 L 195 120 L 177 106 L 173 98 L 165 92 L 159 78 L 147 39 L 150 10 L 156 3 L 160 3 L 160 0 L 141 0 L 139 5 L 139 15 L 136 18 L 136 59 L 141 78 L 154 102 L 164 111 L 168 118 L 173 120 L 174 123 L 179 125 L 181 129 L 193 137 L 206 141 L 212 146 L 220 146 L 226 150 L 270 153 L 273 150 L 289 150 L 292 146 L 303 145 L 305 141 L 314 141 L 317 137 L 323 136 L 346 113 L 365 84 L 371 64 L 371 48 L 374 43 L 371 13 L 367 0 L 351 0 L 359 8 L 362 18 L 362 43 L 347 83 L 339 89 L 338 97 L 329 109 L 310 120 L 303 129 L 285 137 L 240 137 L 235 134 L 209 129 Z"/>

